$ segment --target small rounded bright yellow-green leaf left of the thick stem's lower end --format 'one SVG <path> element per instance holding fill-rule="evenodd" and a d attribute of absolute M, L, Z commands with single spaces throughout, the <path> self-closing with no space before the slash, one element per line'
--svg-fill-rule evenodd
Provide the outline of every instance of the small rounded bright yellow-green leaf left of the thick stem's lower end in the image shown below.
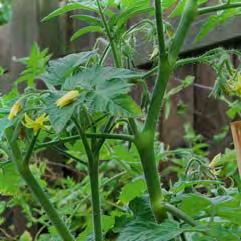
<path fill-rule="evenodd" d="M 127 204 L 136 197 L 141 196 L 146 191 L 146 184 L 143 179 L 137 179 L 127 183 L 121 190 L 119 200 Z"/>

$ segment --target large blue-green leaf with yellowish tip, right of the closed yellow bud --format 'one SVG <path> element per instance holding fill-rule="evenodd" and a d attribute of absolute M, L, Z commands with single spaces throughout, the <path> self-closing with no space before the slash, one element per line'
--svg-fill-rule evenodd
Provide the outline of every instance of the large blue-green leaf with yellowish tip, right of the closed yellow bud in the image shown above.
<path fill-rule="evenodd" d="M 133 117 L 141 110 L 128 96 L 131 84 L 125 79 L 137 76 L 140 74 L 126 69 L 93 67 L 67 78 L 63 89 L 84 89 L 86 106 L 92 112 Z"/>

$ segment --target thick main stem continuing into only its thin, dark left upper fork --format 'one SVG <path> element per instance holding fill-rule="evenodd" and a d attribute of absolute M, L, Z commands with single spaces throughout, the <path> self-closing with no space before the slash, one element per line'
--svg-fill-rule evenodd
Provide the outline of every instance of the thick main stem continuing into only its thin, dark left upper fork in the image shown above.
<path fill-rule="evenodd" d="M 171 67 L 168 62 L 165 47 L 160 0 L 155 0 L 155 15 L 159 46 L 158 75 L 151 97 L 144 129 L 142 133 L 136 135 L 135 143 L 141 158 L 152 211 L 156 221 L 160 223 L 167 217 L 167 213 L 166 208 L 163 205 L 163 195 L 154 154 L 154 141 L 162 99 L 165 93 L 167 81 L 171 74 Z"/>

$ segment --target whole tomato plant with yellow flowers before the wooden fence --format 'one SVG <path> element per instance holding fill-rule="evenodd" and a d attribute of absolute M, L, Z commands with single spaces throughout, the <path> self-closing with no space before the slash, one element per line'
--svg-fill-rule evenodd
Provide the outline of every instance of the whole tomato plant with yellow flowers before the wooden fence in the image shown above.
<path fill-rule="evenodd" d="M 93 50 L 57 60 L 49 60 L 47 50 L 41 51 L 35 45 L 30 57 L 22 60 L 26 70 L 16 82 L 28 83 L 25 92 L 15 95 L 14 100 L 11 96 L 14 96 L 15 89 L 1 100 L 0 137 L 4 158 L 15 164 L 63 240 L 81 240 L 82 237 L 75 237 L 78 231 L 74 224 L 64 222 L 60 217 L 33 175 L 30 161 L 39 150 L 51 147 L 70 156 L 68 148 L 61 149 L 59 145 L 66 147 L 69 143 L 81 141 L 79 156 L 75 153 L 72 158 L 84 163 L 88 171 L 93 222 L 93 235 L 88 240 L 101 241 L 106 222 L 101 213 L 99 170 L 107 140 L 118 140 L 119 145 L 129 148 L 134 146 L 144 173 L 144 181 L 137 178 L 123 188 L 121 200 L 129 203 L 134 216 L 121 229 L 117 240 L 240 239 L 240 215 L 237 215 L 241 211 L 240 194 L 237 186 L 226 190 L 217 180 L 216 165 L 212 165 L 215 169 L 212 170 L 207 159 L 198 157 L 192 146 L 188 152 L 191 156 L 179 150 L 183 160 L 189 157 L 189 162 L 186 171 L 179 175 L 184 179 L 169 191 L 162 188 L 157 167 L 160 159 L 155 145 L 156 126 L 167 97 L 167 83 L 174 70 L 185 64 L 206 63 L 216 70 L 221 80 L 236 76 L 230 70 L 228 59 L 231 54 L 240 56 L 238 51 L 217 48 L 198 57 L 179 58 L 190 27 L 199 16 L 211 14 L 195 41 L 201 41 L 215 26 L 240 14 L 240 1 L 203 7 L 206 2 L 72 1 L 44 19 L 48 21 L 69 11 L 86 10 L 86 15 L 72 16 L 88 23 L 73 35 L 72 40 L 90 32 L 101 34 Z M 163 17 L 170 8 L 174 8 L 170 18 L 180 19 L 176 27 L 171 25 L 169 18 Z M 147 17 L 128 26 L 128 21 L 139 14 Z M 137 70 L 133 64 L 140 33 L 146 35 L 153 47 L 154 66 L 147 73 Z M 101 48 L 103 44 L 104 48 Z M 114 66 L 107 65 L 110 54 Z M 146 80 L 152 75 L 156 75 L 156 81 L 153 90 L 149 91 Z M 45 90 L 36 88 L 36 79 L 44 82 Z M 239 78 L 235 81 L 240 84 Z M 220 83 L 217 81 L 214 92 L 219 90 Z M 134 85 L 143 90 L 141 106 L 130 95 Z M 171 155 L 177 158 L 177 154 Z M 164 157 L 168 158 L 168 155 Z M 206 195 L 197 192 L 200 186 L 204 187 Z M 148 196 L 139 197 L 145 187 Z M 215 191 L 212 190 L 214 187 Z M 131 194 L 126 197 L 125 192 L 130 193 L 129 190 L 133 190 L 132 198 L 129 198 Z M 86 230 L 89 229 L 87 225 Z"/>

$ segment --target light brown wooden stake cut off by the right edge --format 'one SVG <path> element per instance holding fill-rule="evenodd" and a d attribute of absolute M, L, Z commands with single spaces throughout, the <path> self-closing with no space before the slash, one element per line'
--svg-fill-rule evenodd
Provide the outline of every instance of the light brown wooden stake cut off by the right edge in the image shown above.
<path fill-rule="evenodd" d="M 237 152 L 239 176 L 241 177 L 241 121 L 231 123 L 234 147 Z"/>

